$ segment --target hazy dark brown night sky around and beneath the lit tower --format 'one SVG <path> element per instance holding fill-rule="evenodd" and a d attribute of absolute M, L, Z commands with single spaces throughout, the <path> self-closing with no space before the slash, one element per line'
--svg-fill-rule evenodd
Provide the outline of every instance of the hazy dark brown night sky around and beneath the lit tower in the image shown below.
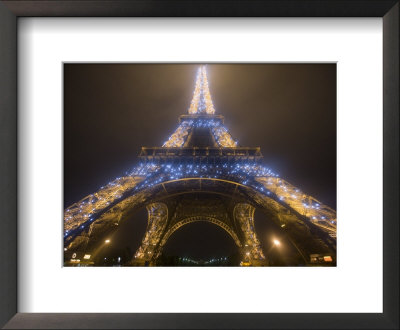
<path fill-rule="evenodd" d="M 167 140 L 187 113 L 198 67 L 64 65 L 64 207 L 131 169 L 142 146 Z M 207 74 L 216 114 L 234 140 L 261 147 L 267 167 L 336 209 L 336 65 L 208 64 Z M 256 229 L 267 230 L 258 218 Z M 119 230 L 121 247 L 134 252 L 146 221 L 141 211 Z M 165 249 L 207 258 L 234 244 L 219 227 L 194 223 Z"/>

